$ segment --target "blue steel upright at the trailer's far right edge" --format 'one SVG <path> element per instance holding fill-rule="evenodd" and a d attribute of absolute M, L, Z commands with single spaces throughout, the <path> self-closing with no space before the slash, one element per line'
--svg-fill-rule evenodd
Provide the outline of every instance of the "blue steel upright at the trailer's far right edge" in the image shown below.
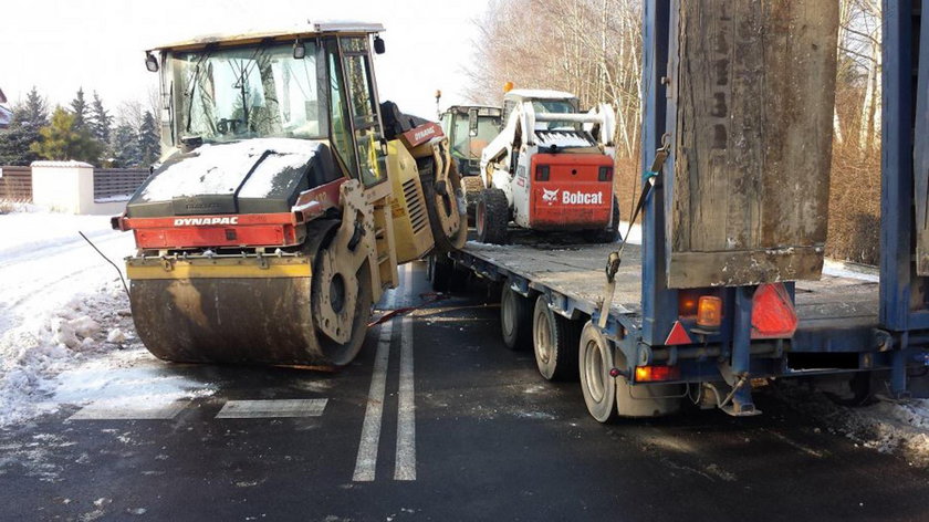
<path fill-rule="evenodd" d="M 921 299 L 918 295 L 918 289 L 929 281 L 917 275 L 912 255 L 917 233 L 914 156 L 929 154 L 914 147 L 917 118 L 929 118 L 929 24 L 921 23 L 926 9 L 927 0 L 883 2 L 879 321 L 895 344 L 891 385 L 897 395 L 906 394 L 907 366 L 929 363 L 925 352 L 929 346 L 929 302 L 925 292 Z M 921 113 L 917 114 L 920 98 Z"/>

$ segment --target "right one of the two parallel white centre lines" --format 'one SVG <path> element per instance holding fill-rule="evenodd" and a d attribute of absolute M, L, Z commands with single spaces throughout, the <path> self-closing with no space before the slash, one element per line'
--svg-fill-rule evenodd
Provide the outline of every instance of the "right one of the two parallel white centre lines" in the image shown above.
<path fill-rule="evenodd" d="M 413 322 L 409 317 L 404 317 L 400 334 L 400 387 L 394 480 L 416 480 L 416 400 L 413 382 Z"/>

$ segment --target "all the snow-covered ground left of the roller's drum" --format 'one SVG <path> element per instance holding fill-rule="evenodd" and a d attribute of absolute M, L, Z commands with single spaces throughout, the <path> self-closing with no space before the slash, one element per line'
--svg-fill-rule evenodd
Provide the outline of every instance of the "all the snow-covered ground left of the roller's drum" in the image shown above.
<path fill-rule="evenodd" d="M 0 428 L 61 404 L 121 395 L 131 387 L 119 384 L 125 379 L 136 396 L 190 393 L 188 383 L 101 372 L 125 365 L 125 357 L 154 358 L 135 336 L 118 274 L 77 231 L 117 265 L 134 250 L 132 234 L 111 230 L 106 216 L 25 210 L 0 215 Z M 124 347 L 134 349 L 118 352 Z"/>

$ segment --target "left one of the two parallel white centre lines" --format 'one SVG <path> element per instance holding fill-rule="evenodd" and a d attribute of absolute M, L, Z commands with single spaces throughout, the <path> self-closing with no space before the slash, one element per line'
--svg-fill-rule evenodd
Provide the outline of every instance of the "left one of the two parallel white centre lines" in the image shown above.
<path fill-rule="evenodd" d="M 392 296 L 393 301 L 393 296 Z M 384 388 L 387 385 L 387 362 L 390 357 L 390 337 L 394 333 L 393 322 L 380 326 L 380 337 L 377 341 L 377 354 L 374 358 L 374 373 L 370 377 L 365 420 L 362 425 L 362 440 L 358 443 L 358 458 L 355 460 L 355 482 L 370 482 L 377 468 L 377 446 L 380 441 L 380 418 L 384 415 Z"/>

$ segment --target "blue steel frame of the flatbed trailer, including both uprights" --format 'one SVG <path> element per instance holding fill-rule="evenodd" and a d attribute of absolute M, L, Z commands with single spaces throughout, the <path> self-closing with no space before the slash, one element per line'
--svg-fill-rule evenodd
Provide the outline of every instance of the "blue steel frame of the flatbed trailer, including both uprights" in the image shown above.
<path fill-rule="evenodd" d="M 919 1 L 919 0 L 917 0 Z M 723 300 L 723 321 L 718 334 L 707 335 L 699 345 L 667 346 L 666 341 L 679 316 L 678 290 L 667 286 L 666 202 L 671 187 L 660 173 L 648 173 L 656 152 L 662 147 L 666 133 L 674 133 L 677 107 L 666 92 L 669 58 L 677 55 L 676 38 L 680 0 L 646 0 L 644 2 L 644 74 L 643 74 L 643 158 L 644 182 L 654 176 L 654 188 L 643 208 L 641 240 L 641 314 L 633 321 L 624 314 L 610 313 L 603 330 L 605 337 L 620 349 L 630 375 L 636 365 L 674 364 L 680 377 L 668 383 L 699 384 L 721 382 L 731 387 L 732 415 L 752 415 L 755 408 L 752 377 L 781 377 L 856 373 L 875 369 L 890 370 L 890 389 L 895 396 L 907 395 L 907 370 L 915 365 L 929 365 L 929 303 L 914 305 L 912 289 L 925 286 L 929 278 L 916 275 L 914 252 L 912 173 L 916 82 L 912 71 L 920 65 L 920 76 L 928 80 L 929 59 L 919 63 L 918 50 L 911 52 L 919 28 L 918 11 L 911 0 L 884 0 L 884 100 L 883 100 L 883 164 L 881 164 L 881 228 L 879 313 L 867 321 L 821 321 L 813 327 L 797 330 L 789 340 L 752 340 L 752 296 L 758 286 L 704 289 L 718 292 Z M 929 8 L 929 0 L 922 0 Z M 929 24 L 922 27 L 925 38 L 920 46 L 929 48 Z M 929 52 L 929 51 L 927 51 Z M 674 65 L 674 64 L 671 64 Z M 927 90 L 923 90 L 927 91 Z M 929 96 L 929 92 L 922 95 Z M 929 105 L 929 104 L 927 104 Z M 929 118 L 927 114 L 920 117 Z M 929 150 L 925 152 L 929 154 Z M 664 163 L 664 173 L 672 173 L 674 150 Z M 577 319 L 586 315 L 596 324 L 599 305 L 573 299 L 550 285 L 533 281 L 501 263 L 468 253 L 455 252 L 451 258 L 478 275 L 498 282 L 507 281 L 522 295 L 541 294 L 556 313 Z M 603 260 L 604 263 L 606 259 Z M 785 284 L 795 301 L 795 284 Z M 926 292 L 929 295 L 929 291 Z M 927 297 L 929 299 L 929 297 Z M 688 325 L 692 326 L 692 325 Z M 786 353 L 817 356 L 849 357 L 856 364 L 842 367 L 828 365 L 815 370 L 794 370 L 787 365 Z M 631 384 L 636 385 L 635 380 Z"/>

